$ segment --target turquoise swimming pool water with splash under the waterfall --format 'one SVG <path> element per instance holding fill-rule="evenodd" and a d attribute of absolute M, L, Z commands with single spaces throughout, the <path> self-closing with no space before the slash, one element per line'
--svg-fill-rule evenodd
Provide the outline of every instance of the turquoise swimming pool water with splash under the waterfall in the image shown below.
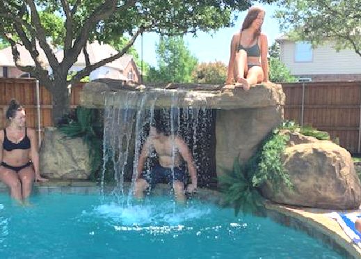
<path fill-rule="evenodd" d="M 342 258 L 304 233 L 210 203 L 113 200 L 49 194 L 21 207 L 0 194 L 0 258 Z"/>

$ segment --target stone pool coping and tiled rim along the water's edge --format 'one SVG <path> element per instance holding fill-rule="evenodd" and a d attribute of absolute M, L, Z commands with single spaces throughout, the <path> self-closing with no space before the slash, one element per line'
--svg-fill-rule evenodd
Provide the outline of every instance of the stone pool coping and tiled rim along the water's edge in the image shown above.
<path fill-rule="evenodd" d="M 106 189 L 108 188 L 113 189 L 113 187 L 106 187 Z M 7 191 L 7 188 L 0 182 L 0 192 L 3 191 Z M 96 182 L 91 181 L 50 180 L 49 182 L 35 183 L 34 192 L 37 194 L 100 194 L 100 188 Z M 168 185 L 156 188 L 154 193 L 169 194 Z M 220 193 L 210 189 L 199 189 L 196 196 L 214 203 L 221 201 Z M 344 233 L 337 221 L 328 217 L 330 212 L 332 210 L 292 207 L 266 201 L 267 217 L 325 242 L 345 258 L 361 258 L 360 247 L 355 245 Z M 361 212 L 361 210 L 347 212 Z"/>

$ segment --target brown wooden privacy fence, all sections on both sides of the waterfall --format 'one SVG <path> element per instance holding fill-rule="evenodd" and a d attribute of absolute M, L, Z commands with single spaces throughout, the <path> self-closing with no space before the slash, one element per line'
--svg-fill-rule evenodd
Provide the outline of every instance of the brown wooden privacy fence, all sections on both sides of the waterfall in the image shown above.
<path fill-rule="evenodd" d="M 79 104 L 83 84 L 72 87 L 70 104 Z M 284 118 L 330 133 L 332 139 L 353 153 L 360 153 L 361 81 L 282 84 L 286 94 Z M 6 126 L 5 112 L 15 98 L 26 108 L 26 125 L 38 128 L 36 81 L 0 77 L 0 128 Z M 51 94 L 40 86 L 40 128 L 52 126 Z"/>

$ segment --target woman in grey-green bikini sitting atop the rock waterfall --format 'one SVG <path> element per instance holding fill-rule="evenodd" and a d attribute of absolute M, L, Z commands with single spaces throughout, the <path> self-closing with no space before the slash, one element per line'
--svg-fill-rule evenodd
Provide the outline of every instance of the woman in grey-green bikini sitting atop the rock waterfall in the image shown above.
<path fill-rule="evenodd" d="M 231 42 L 230 62 L 226 84 L 243 85 L 248 90 L 262 81 L 268 81 L 267 36 L 261 33 L 264 10 L 252 7 L 239 33 L 235 33 Z"/>

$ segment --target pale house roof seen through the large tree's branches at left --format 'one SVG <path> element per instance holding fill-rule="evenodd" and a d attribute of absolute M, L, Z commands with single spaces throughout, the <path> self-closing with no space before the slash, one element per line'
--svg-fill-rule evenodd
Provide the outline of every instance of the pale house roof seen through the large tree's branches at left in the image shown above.
<path fill-rule="evenodd" d="M 17 49 L 20 53 L 20 64 L 21 65 L 32 65 L 32 66 L 35 65 L 33 58 L 31 58 L 31 55 L 25 49 L 24 46 L 17 45 Z M 42 61 L 42 63 L 45 63 L 45 65 L 49 65 L 44 52 L 42 52 L 42 49 L 41 48 L 38 48 L 38 49 L 40 49 L 40 51 L 39 51 L 40 61 Z M 88 50 L 88 54 L 89 54 L 90 63 L 92 63 L 92 64 L 102 61 L 104 58 L 108 58 L 109 56 L 113 56 L 118 53 L 118 51 L 115 50 L 113 47 L 111 47 L 111 45 L 99 44 L 98 42 L 93 42 L 91 44 L 88 44 L 87 50 Z M 59 62 L 63 61 L 63 56 L 64 56 L 63 50 L 58 49 L 58 51 L 55 51 L 55 52 L 56 52 L 55 55 L 56 55 L 56 58 L 58 58 L 58 61 Z M 124 70 L 132 58 L 133 58 L 133 56 L 125 54 L 122 57 L 118 58 L 117 60 L 115 60 L 111 63 L 107 63 L 104 66 L 109 67 L 109 68 L 115 68 L 118 70 Z M 84 56 L 83 52 L 81 52 L 79 54 L 78 59 L 74 63 L 74 65 L 81 66 L 81 67 L 86 65 L 86 60 L 85 60 L 85 56 Z M 13 53 L 11 51 L 11 47 L 6 47 L 5 49 L 0 50 L 0 66 L 15 67 L 15 62 L 14 62 L 14 58 L 13 58 Z"/>

